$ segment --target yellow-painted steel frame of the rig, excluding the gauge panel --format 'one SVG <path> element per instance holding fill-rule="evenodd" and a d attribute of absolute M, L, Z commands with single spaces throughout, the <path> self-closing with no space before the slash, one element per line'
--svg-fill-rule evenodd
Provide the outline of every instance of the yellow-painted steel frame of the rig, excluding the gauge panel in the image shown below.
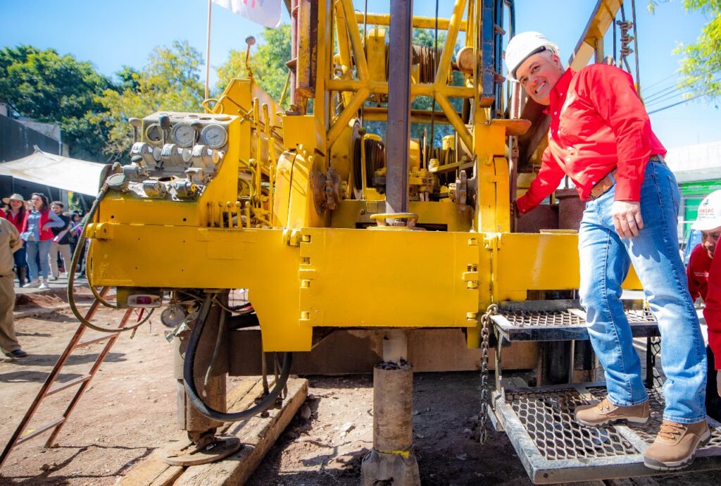
<path fill-rule="evenodd" d="M 335 211 L 319 209 L 318 198 L 330 187 L 324 177 L 332 159 L 340 160 L 345 182 L 352 178 L 355 119 L 371 94 L 388 92 L 388 83 L 371 79 L 352 1 L 319 0 L 318 7 L 313 113 L 278 120 L 275 106 L 263 106 L 264 94 L 252 80 L 233 81 L 213 107 L 235 116 L 215 180 L 195 202 L 107 195 L 88 229 L 92 283 L 248 288 L 266 351 L 310 350 L 314 327 L 353 326 L 462 327 L 475 347 L 479 312 L 488 304 L 525 300 L 528 290 L 578 288 L 575 235 L 510 233 L 505 141 L 522 123 L 490 120 L 479 107 L 482 90 L 474 76 L 464 87 L 447 84 L 460 31 L 467 32 L 466 45 L 479 52 L 479 0 L 456 0 L 451 18 L 439 20 L 448 37 L 435 79 L 411 87 L 413 96 L 435 97 L 459 143 L 472 152 L 475 206 L 459 211 L 449 200 L 410 202 L 418 226 L 443 225 L 447 231 L 356 229 L 385 212 L 382 200 L 346 199 Z M 386 21 L 368 16 L 374 24 Z M 428 28 L 428 19 L 416 18 L 414 25 Z M 340 76 L 333 77 L 334 63 L 341 66 Z M 330 100 L 337 92 L 344 107 L 336 115 Z M 473 100 L 472 130 L 450 97 Z M 270 126 L 278 123 L 282 134 Z M 252 177 L 242 185 L 252 211 L 236 203 L 239 169 Z M 266 227 L 250 227 L 251 221 Z"/>

